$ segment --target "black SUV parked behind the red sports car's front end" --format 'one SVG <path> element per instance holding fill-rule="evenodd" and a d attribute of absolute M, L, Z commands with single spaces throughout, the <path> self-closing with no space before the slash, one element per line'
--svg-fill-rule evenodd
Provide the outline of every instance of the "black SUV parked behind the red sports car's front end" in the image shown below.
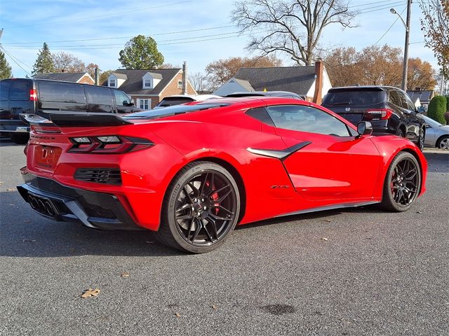
<path fill-rule="evenodd" d="M 354 125 L 369 121 L 374 135 L 395 134 L 424 147 L 424 119 L 406 92 L 390 86 L 334 87 L 322 106 Z"/>

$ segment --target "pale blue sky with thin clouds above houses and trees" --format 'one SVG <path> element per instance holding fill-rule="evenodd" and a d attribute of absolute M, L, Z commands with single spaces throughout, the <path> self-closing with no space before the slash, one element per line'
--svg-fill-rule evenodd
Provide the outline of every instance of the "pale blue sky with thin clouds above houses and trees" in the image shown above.
<path fill-rule="evenodd" d="M 355 28 L 333 24 L 323 31 L 322 48 L 352 46 L 356 50 L 388 44 L 403 48 L 407 1 L 352 0 L 359 14 Z M 239 34 L 230 19 L 232 0 L 0 0 L 0 38 L 13 76 L 32 72 L 39 49 L 48 43 L 51 52 L 69 52 L 102 71 L 119 69 L 119 51 L 138 34 L 152 36 L 165 63 L 182 66 L 189 73 L 203 72 L 207 64 L 228 57 L 255 56 L 246 50 L 249 36 Z M 422 16 L 417 1 L 412 5 L 409 57 L 421 57 L 438 69 L 434 53 L 424 46 Z M 294 65 L 282 54 L 285 66 Z"/>

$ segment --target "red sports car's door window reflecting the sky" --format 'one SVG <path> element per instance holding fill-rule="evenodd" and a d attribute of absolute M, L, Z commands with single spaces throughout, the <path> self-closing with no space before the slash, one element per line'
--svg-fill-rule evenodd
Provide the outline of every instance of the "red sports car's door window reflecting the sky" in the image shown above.
<path fill-rule="evenodd" d="M 302 105 L 268 106 L 274 125 L 286 130 L 351 137 L 348 127 L 329 113 Z"/>

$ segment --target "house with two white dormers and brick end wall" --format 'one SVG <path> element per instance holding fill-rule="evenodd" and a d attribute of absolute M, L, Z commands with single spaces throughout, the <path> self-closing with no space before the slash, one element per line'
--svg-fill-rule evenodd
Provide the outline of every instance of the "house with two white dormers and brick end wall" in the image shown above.
<path fill-rule="evenodd" d="M 117 69 L 102 85 L 119 88 L 145 110 L 154 108 L 166 96 L 196 94 L 187 80 L 185 62 L 182 69 Z"/>

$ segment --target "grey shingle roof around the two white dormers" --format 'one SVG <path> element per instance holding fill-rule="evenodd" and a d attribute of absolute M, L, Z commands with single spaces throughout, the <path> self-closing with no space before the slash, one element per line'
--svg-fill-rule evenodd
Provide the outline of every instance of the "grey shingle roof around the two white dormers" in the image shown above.
<path fill-rule="evenodd" d="M 117 69 L 114 71 L 114 75 L 126 75 L 126 80 L 120 85 L 119 89 L 127 94 L 157 94 L 159 95 L 163 89 L 170 83 L 171 80 L 180 72 L 181 69 L 145 69 L 145 70 L 128 70 Z M 145 73 L 151 73 L 151 75 L 161 76 L 161 81 L 152 89 L 142 89 L 142 77 Z M 124 78 L 123 78 L 124 79 Z M 107 86 L 107 80 L 102 85 Z"/>

